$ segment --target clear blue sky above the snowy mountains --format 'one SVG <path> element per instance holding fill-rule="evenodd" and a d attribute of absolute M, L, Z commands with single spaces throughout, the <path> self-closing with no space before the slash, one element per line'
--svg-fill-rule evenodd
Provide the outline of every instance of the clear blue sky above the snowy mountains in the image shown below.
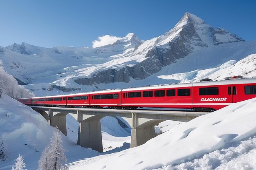
<path fill-rule="evenodd" d="M 256 0 L 1 0 L 0 46 L 92 46 L 99 36 L 163 35 L 184 13 L 256 40 Z"/>

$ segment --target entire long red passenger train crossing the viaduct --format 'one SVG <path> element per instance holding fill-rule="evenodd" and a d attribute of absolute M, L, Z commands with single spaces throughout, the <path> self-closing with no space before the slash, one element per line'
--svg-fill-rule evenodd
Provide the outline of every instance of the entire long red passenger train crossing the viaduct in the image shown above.
<path fill-rule="evenodd" d="M 236 78 L 223 81 L 145 86 L 17 100 L 23 104 L 34 106 L 83 106 L 113 109 L 156 107 L 211 111 L 254 97 L 256 97 L 256 78 Z"/>

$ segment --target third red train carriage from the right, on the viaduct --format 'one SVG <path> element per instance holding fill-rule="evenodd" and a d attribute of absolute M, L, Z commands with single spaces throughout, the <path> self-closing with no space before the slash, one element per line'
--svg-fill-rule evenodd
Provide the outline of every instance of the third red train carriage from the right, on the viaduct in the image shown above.
<path fill-rule="evenodd" d="M 90 106 L 92 108 L 121 108 L 121 90 L 104 90 L 90 92 Z"/>

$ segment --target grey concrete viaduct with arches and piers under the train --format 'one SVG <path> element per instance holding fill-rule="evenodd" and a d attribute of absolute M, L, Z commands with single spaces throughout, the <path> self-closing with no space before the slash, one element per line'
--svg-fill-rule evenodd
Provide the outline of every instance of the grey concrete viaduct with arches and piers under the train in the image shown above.
<path fill-rule="evenodd" d="M 43 115 L 51 126 L 58 126 L 67 136 L 66 115 L 72 115 L 79 122 L 77 144 L 103 152 L 100 119 L 105 116 L 119 116 L 132 127 L 130 147 L 146 143 L 156 136 L 154 126 L 165 120 L 187 122 L 207 112 L 171 110 L 114 110 L 92 108 L 61 108 L 30 106 Z"/>

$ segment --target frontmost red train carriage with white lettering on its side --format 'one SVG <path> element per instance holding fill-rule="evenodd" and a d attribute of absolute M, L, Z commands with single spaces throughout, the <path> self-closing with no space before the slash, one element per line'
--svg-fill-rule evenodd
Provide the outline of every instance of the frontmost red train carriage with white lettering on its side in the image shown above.
<path fill-rule="evenodd" d="M 253 90 L 254 88 L 255 90 Z M 194 110 L 218 110 L 229 104 L 256 97 L 256 79 L 229 79 L 193 83 L 193 92 Z"/>

